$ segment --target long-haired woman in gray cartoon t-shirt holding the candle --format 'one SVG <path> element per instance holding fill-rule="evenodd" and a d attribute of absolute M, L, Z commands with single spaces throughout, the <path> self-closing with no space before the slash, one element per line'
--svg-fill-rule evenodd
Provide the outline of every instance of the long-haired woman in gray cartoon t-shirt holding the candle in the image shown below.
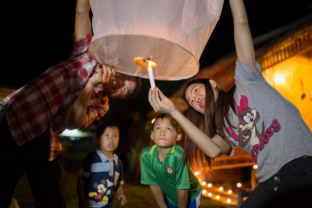
<path fill-rule="evenodd" d="M 212 158 L 231 156 L 236 146 L 250 152 L 259 185 L 241 207 L 305 207 L 312 187 L 312 133 L 255 62 L 243 1 L 230 0 L 230 6 L 236 85 L 224 91 L 214 80 L 189 82 L 184 90 L 188 119 L 159 89 L 150 89 L 149 102 L 156 112 L 171 114 L 187 134 L 185 162 L 195 161 L 197 148 L 197 158 L 209 167 Z"/>

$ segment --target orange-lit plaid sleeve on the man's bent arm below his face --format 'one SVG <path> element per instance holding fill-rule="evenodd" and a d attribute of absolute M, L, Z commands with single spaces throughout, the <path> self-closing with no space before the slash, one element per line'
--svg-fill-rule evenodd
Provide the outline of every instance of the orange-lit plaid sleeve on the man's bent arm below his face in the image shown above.
<path fill-rule="evenodd" d="M 89 126 L 94 120 L 99 120 L 101 117 L 107 114 L 109 108 L 108 99 L 101 100 L 100 102 L 96 102 L 93 105 L 88 105 L 85 112 L 84 128 Z"/>

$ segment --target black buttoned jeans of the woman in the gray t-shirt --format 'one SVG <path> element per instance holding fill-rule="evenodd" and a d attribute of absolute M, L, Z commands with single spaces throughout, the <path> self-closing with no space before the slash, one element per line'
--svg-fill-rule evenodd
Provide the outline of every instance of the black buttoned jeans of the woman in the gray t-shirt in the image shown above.
<path fill-rule="evenodd" d="M 312 207 L 312 157 L 300 157 L 258 184 L 240 208 Z"/>

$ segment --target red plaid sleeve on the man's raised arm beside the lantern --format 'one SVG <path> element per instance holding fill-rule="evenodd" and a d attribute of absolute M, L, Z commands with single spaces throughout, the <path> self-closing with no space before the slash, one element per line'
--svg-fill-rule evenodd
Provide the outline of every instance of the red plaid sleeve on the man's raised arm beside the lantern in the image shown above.
<path fill-rule="evenodd" d="M 88 34 L 80 38 L 79 40 L 75 40 L 74 35 L 72 37 L 73 37 L 73 45 L 74 45 L 75 50 L 71 53 L 69 59 L 90 58 L 90 55 L 87 55 L 87 56 L 84 56 L 84 55 L 89 53 L 88 49 L 92 40 L 92 33 L 89 32 Z"/>

